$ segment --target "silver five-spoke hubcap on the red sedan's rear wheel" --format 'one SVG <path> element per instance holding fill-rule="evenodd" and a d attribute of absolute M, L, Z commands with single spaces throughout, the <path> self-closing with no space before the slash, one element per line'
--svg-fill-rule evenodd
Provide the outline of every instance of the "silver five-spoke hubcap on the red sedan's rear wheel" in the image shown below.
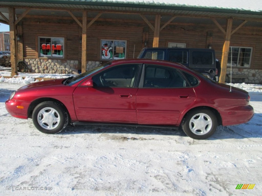
<path fill-rule="evenodd" d="M 196 135 L 204 135 L 212 128 L 212 120 L 205 113 L 195 114 L 189 121 L 190 130 Z"/>

